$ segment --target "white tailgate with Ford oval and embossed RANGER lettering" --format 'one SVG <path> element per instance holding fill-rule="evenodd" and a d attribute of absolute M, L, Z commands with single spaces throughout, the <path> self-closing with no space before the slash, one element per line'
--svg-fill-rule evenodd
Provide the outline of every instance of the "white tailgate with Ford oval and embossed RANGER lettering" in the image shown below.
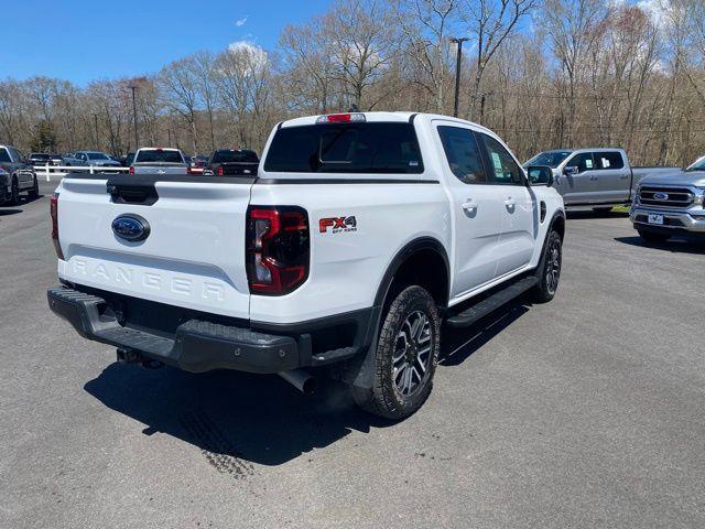
<path fill-rule="evenodd" d="M 61 278 L 197 311 L 249 316 L 245 223 L 251 181 L 107 179 L 66 177 L 62 183 Z M 112 223 L 126 214 L 149 224 L 144 240 L 116 235 Z"/>

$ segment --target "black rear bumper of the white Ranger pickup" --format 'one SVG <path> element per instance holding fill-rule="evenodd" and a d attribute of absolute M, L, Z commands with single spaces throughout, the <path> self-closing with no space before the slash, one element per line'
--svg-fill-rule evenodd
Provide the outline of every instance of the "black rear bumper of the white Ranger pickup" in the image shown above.
<path fill-rule="evenodd" d="M 137 352 L 147 359 L 192 373 L 236 369 L 273 374 L 344 360 L 361 350 L 368 341 L 369 323 L 373 314 L 378 314 L 369 310 L 350 315 L 350 322 L 359 323 L 350 334 L 352 343 L 347 347 L 316 350 L 316 333 L 335 332 L 347 320 L 334 319 L 328 326 L 322 322 L 291 328 L 276 326 L 275 333 L 270 334 L 250 328 L 245 322 L 224 324 L 192 317 L 180 323 L 173 332 L 165 332 L 126 324 L 120 313 L 121 303 L 94 293 L 57 287 L 48 289 L 46 295 L 50 309 L 69 322 L 83 337 Z M 139 307 L 133 312 L 142 310 Z"/>

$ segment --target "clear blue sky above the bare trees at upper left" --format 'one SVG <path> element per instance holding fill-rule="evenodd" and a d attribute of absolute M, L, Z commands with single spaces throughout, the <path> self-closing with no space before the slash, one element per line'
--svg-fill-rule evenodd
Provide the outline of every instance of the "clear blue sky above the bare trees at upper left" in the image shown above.
<path fill-rule="evenodd" d="M 152 73 L 197 50 L 236 41 L 276 45 L 288 23 L 325 11 L 330 0 L 3 0 L 0 79 L 34 75 L 80 86 Z"/>

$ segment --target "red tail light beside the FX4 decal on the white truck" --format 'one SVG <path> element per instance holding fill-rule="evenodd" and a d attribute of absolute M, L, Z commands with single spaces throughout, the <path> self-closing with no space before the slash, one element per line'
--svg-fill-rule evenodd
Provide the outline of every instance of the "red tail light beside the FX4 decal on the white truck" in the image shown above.
<path fill-rule="evenodd" d="M 250 293 L 283 295 L 306 280 L 310 231 L 305 209 L 250 206 L 246 237 Z"/>

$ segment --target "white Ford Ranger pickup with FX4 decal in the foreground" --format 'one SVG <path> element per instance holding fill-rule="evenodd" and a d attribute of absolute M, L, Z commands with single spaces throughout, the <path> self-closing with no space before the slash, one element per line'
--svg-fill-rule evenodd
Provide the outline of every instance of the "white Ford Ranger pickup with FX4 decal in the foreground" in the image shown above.
<path fill-rule="evenodd" d="M 424 402 L 442 323 L 555 294 L 551 170 L 445 116 L 336 114 L 272 131 L 257 176 L 72 174 L 52 198 L 51 309 L 118 359 L 347 382 Z"/>

